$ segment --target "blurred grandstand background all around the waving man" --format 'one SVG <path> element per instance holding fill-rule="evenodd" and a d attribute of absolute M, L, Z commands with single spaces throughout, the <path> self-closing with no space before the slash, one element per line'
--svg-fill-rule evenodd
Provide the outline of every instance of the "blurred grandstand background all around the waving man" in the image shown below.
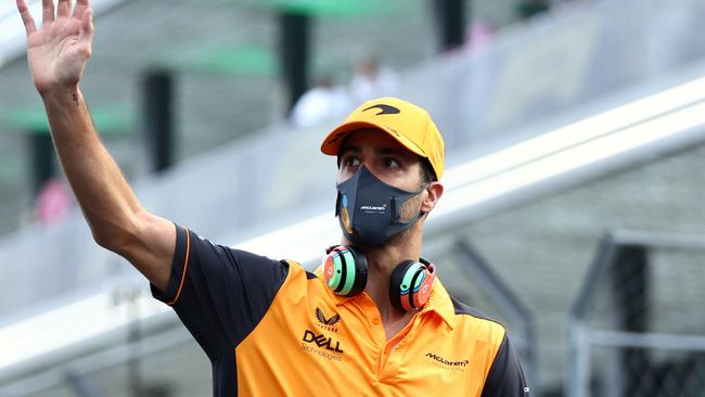
<path fill-rule="evenodd" d="M 41 1 L 28 1 L 37 17 Z M 312 269 L 324 133 L 426 107 L 424 256 L 507 325 L 534 396 L 705 389 L 704 0 L 92 0 L 81 88 L 151 212 Z M 93 243 L 0 4 L 0 396 L 207 396 L 206 356 Z"/>

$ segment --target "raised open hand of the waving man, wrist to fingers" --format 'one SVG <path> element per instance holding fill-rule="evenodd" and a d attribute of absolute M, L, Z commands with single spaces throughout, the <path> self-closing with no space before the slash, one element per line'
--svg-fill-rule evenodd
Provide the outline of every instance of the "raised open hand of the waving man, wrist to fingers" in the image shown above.
<path fill-rule="evenodd" d="M 89 0 L 42 0 L 42 24 L 37 29 L 25 0 L 16 0 L 27 31 L 27 60 L 35 87 L 40 93 L 56 88 L 75 88 L 91 55 L 92 10 Z"/>

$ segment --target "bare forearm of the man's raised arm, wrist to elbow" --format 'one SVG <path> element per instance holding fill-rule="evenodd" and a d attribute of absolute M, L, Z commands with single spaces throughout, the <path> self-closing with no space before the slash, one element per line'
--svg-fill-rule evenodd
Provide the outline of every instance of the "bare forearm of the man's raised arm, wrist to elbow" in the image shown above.
<path fill-rule="evenodd" d="M 42 99 L 59 159 L 95 241 L 119 249 L 137 232 L 142 207 L 98 137 L 80 90 L 62 87 Z"/>

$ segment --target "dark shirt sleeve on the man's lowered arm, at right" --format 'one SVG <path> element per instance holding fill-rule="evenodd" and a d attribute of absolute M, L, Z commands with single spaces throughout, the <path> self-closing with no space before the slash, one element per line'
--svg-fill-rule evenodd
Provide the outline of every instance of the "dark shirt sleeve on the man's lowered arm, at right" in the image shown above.
<path fill-rule="evenodd" d="M 482 397 L 528 397 L 529 387 L 507 334 L 489 369 Z"/>

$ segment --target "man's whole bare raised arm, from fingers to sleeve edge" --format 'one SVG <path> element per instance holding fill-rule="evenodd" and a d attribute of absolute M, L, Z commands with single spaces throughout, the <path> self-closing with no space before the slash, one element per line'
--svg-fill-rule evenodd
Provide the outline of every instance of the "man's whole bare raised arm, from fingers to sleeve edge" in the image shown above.
<path fill-rule="evenodd" d="M 102 144 L 78 82 L 91 54 L 92 11 L 78 0 L 42 0 L 37 29 L 25 0 L 16 0 L 27 31 L 29 71 L 39 91 L 62 167 L 95 241 L 127 258 L 155 286 L 166 290 L 176 231 L 148 213 Z"/>

